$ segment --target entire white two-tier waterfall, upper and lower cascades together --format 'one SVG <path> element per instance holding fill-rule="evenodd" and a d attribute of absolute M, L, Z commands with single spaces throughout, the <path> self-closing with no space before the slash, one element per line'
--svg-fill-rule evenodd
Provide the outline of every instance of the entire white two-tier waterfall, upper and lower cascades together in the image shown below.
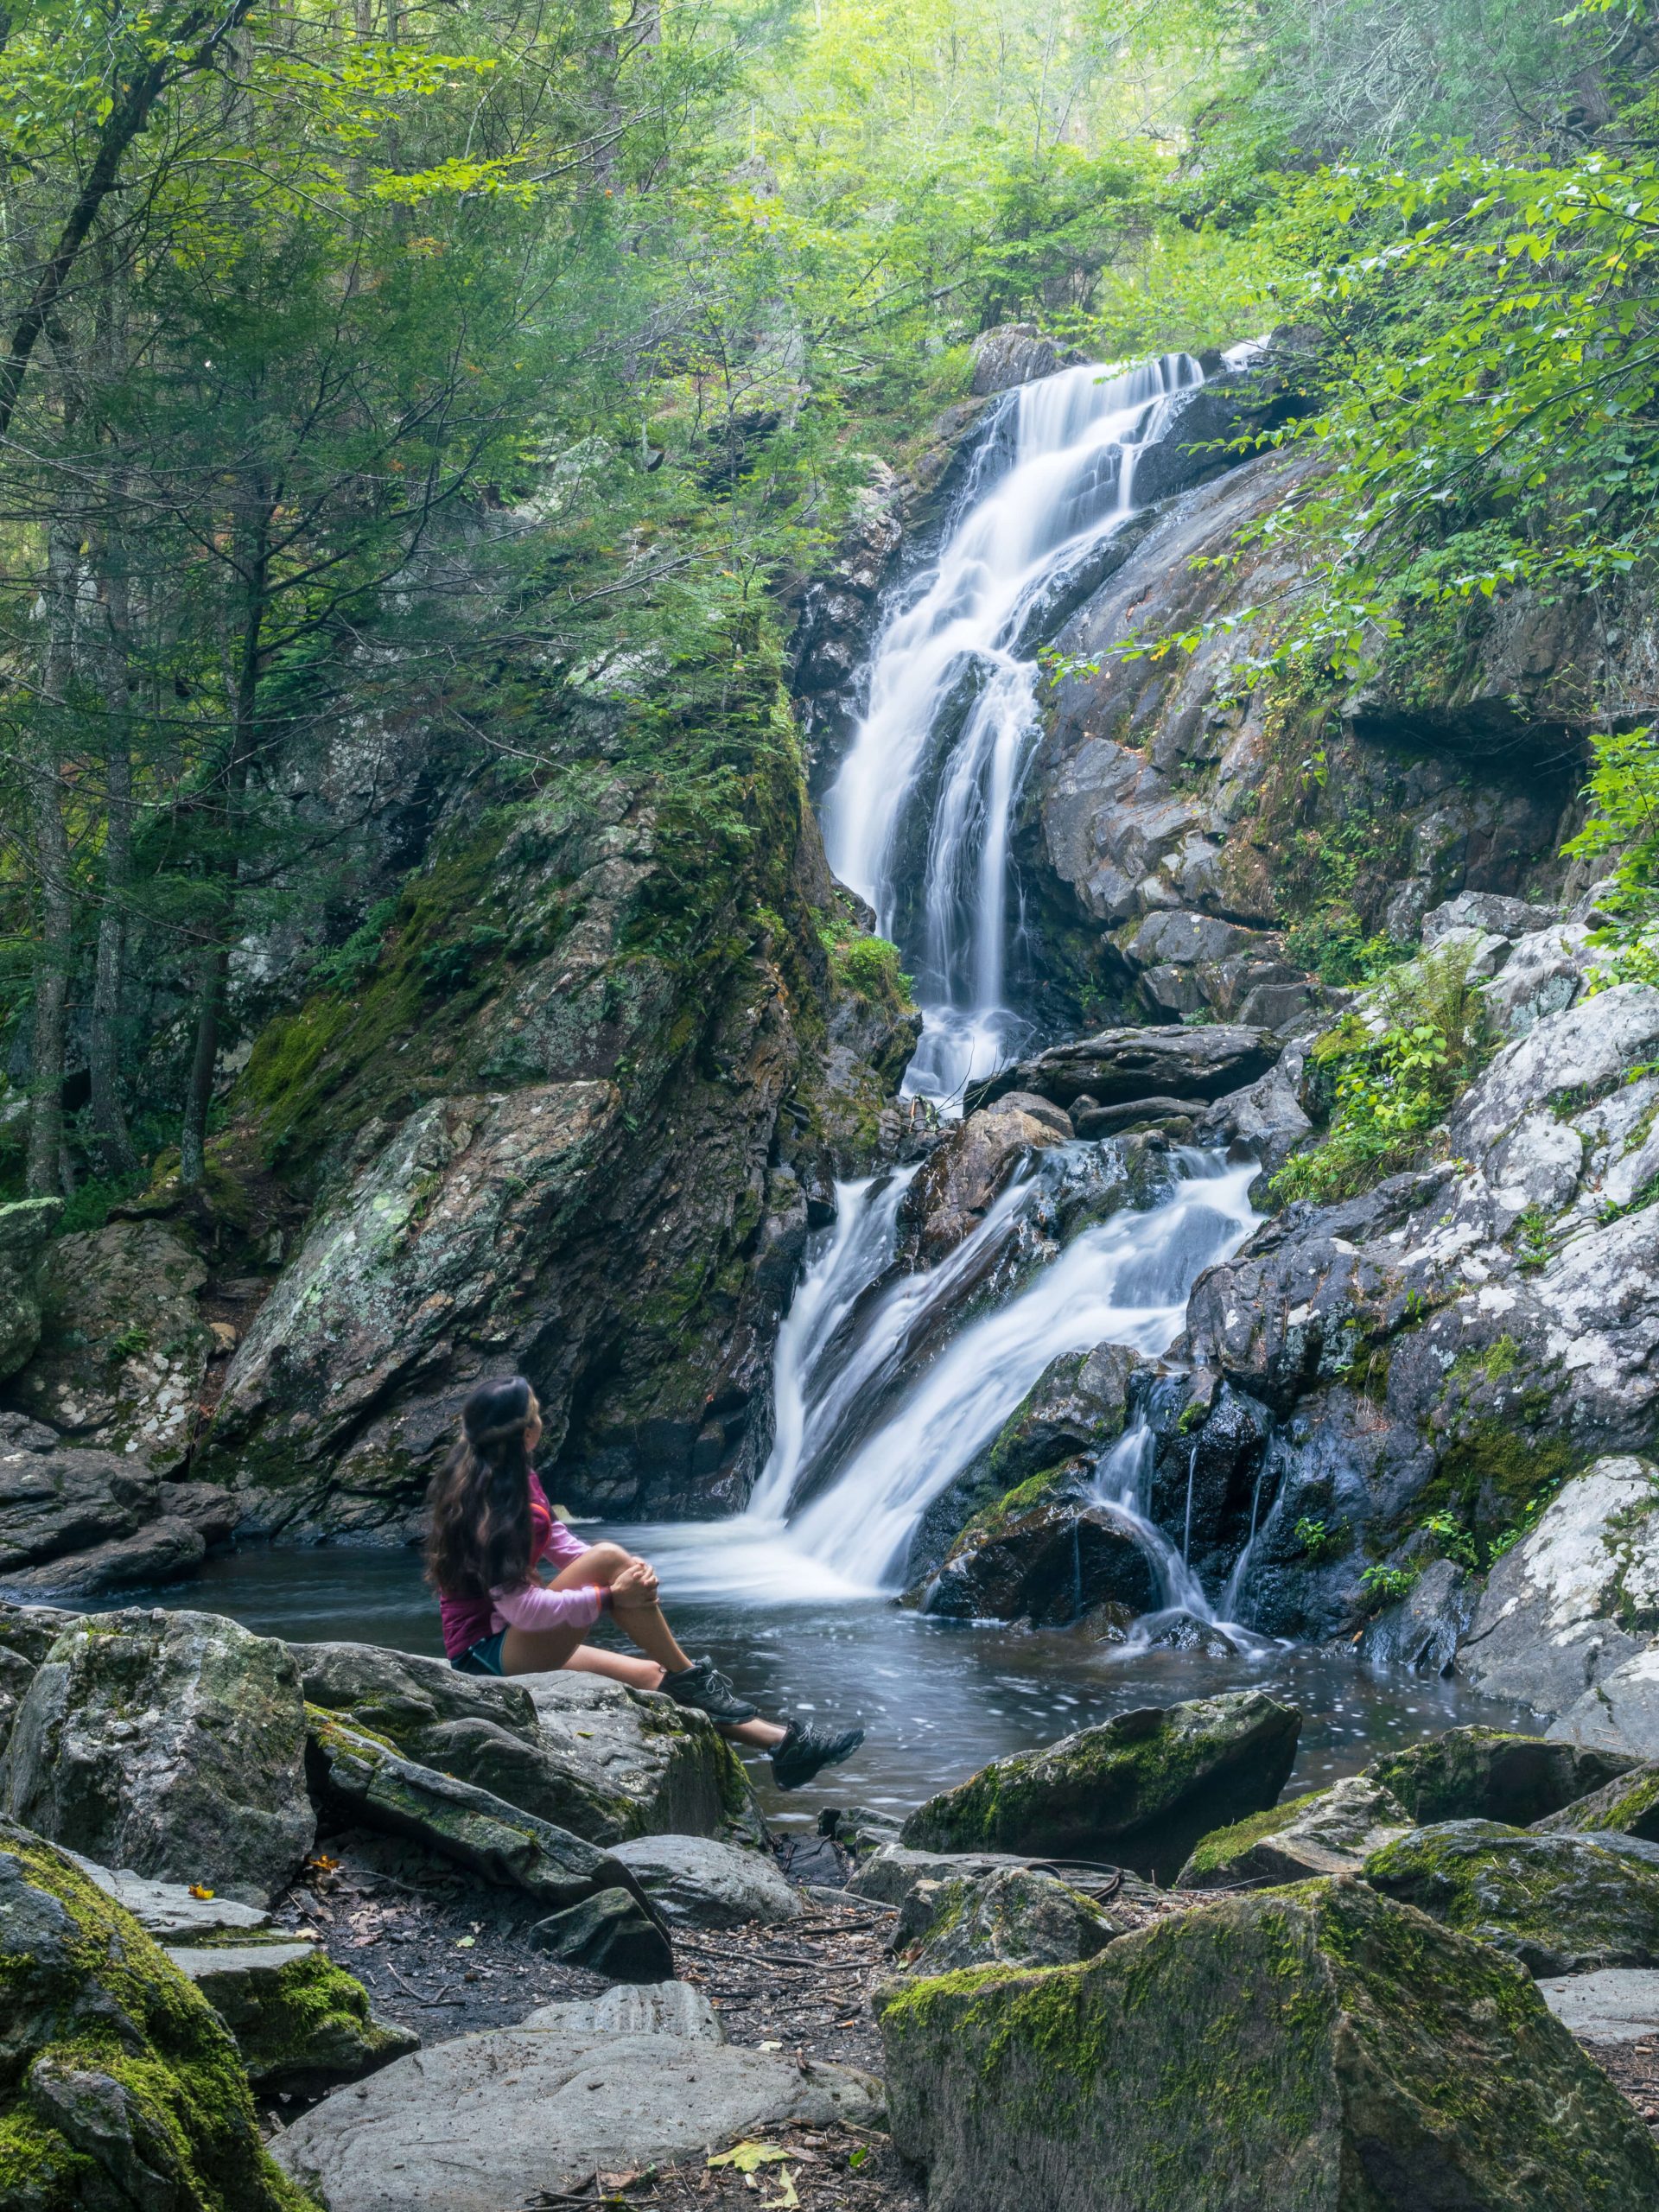
<path fill-rule="evenodd" d="M 938 564 L 876 646 L 869 712 L 825 799 L 825 843 L 916 967 L 925 1029 L 905 1088 L 945 1110 L 1024 1031 L 1004 984 L 1009 841 L 1037 732 L 1042 624 L 1135 511 L 1137 453 L 1201 383 L 1199 363 L 1172 354 L 1011 392 Z M 914 929 L 900 927 L 900 907 Z M 779 1336 L 776 1440 L 748 1513 L 650 1533 L 672 1555 L 679 1590 L 783 1599 L 900 1588 L 927 1506 L 1055 1358 L 1099 1343 L 1168 1349 L 1197 1276 L 1250 1234 L 1256 1170 L 1181 1152 L 1161 1203 L 1119 1206 L 1057 1250 L 1042 1243 L 1055 1177 L 1102 1150 L 1046 1152 L 947 1259 L 911 1272 L 894 1259 L 916 1170 L 838 1186 L 836 1223 L 810 1252 Z M 1022 1237 L 1042 1245 L 1037 1263 L 1013 1265 L 1013 1287 L 998 1296 L 998 1267 Z M 989 1310 L 973 1310 L 975 1298 Z M 973 1318 L 958 1325 L 964 1307 Z M 1146 1513 L 1148 1482 L 1150 1433 L 1137 1427 L 1102 1464 L 1102 1502 L 1148 1551 L 1166 1606 L 1210 1619 L 1190 1546 L 1177 1551 Z"/>

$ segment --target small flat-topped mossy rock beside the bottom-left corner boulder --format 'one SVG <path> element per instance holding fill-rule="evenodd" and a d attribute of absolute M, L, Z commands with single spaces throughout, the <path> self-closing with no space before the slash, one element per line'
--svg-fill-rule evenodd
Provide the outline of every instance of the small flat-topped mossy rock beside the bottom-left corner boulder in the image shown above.
<path fill-rule="evenodd" d="M 319 1944 L 175 1944 L 168 1958 L 237 2037 L 265 2097 L 321 2097 L 420 2048 L 409 2028 L 374 2017 L 367 1989 Z"/>

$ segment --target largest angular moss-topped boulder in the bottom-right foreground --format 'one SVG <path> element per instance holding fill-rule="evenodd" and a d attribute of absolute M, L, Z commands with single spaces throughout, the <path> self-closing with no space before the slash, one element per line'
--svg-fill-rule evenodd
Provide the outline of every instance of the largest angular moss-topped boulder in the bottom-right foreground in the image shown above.
<path fill-rule="evenodd" d="M 1659 2150 L 1517 1969 L 1352 1878 L 878 2000 L 929 2212 L 1650 2212 Z"/>

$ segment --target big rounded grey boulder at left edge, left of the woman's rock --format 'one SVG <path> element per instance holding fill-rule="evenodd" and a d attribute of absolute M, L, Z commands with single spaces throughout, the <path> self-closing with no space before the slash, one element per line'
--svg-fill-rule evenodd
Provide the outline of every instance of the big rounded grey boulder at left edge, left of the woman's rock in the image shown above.
<path fill-rule="evenodd" d="M 75 1621 L 18 1712 L 4 1809 L 102 1865 L 268 1902 L 316 1836 L 288 1646 L 215 1613 Z"/>

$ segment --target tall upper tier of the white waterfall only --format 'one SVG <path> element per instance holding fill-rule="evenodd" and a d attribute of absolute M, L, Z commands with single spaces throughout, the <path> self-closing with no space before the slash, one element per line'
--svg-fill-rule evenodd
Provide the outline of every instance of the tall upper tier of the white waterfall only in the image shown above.
<path fill-rule="evenodd" d="M 1013 1055 L 1006 1004 L 1009 838 L 1037 734 L 1033 619 L 1135 511 L 1135 458 L 1203 383 L 1190 354 L 1062 369 L 1009 392 L 938 564 L 887 619 L 869 710 L 823 803 L 830 865 L 916 971 L 911 1095 L 960 1097 Z M 960 734 L 953 719 L 962 714 Z M 920 927 L 911 821 L 931 805 Z"/>

